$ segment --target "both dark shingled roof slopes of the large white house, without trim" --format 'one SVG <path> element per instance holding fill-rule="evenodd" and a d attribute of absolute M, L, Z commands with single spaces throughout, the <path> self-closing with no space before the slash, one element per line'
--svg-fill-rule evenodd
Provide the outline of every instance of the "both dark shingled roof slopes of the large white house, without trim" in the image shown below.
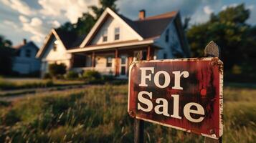
<path fill-rule="evenodd" d="M 139 19 L 136 21 L 132 21 L 121 14 L 118 14 L 118 16 L 120 16 L 120 18 L 131 26 L 131 28 L 134 29 L 139 35 L 141 35 L 143 39 L 153 39 L 161 35 L 163 30 L 166 29 L 166 26 L 172 19 L 174 19 L 176 14 L 177 11 L 171 11 L 165 14 L 149 16 L 145 19 Z M 77 36 L 75 32 L 63 31 L 60 29 L 55 29 L 55 31 L 60 36 L 60 39 L 67 49 L 74 49 L 80 46 L 86 36 Z"/>

